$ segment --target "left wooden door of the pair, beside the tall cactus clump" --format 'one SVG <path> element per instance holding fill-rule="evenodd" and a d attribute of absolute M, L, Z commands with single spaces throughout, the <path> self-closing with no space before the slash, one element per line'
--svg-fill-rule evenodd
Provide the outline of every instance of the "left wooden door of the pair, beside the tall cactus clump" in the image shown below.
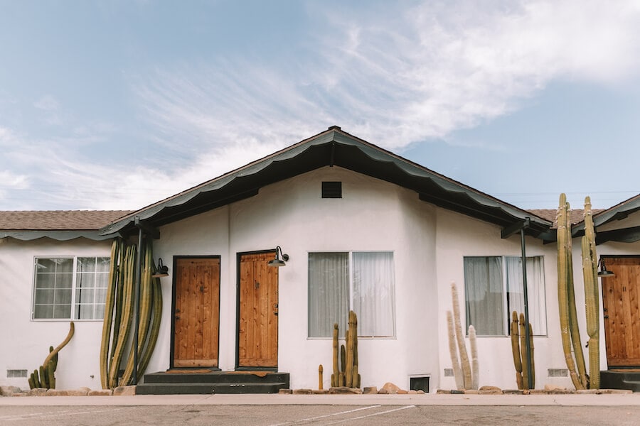
<path fill-rule="evenodd" d="M 174 367 L 218 366 L 220 258 L 176 259 Z"/>

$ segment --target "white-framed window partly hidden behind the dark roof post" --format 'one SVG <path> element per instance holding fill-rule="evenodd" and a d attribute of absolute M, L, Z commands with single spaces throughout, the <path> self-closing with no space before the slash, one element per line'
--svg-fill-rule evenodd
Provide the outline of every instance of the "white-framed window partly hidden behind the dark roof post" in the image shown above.
<path fill-rule="evenodd" d="M 536 336 L 547 334 L 545 271 L 542 256 L 527 257 L 529 322 Z M 466 327 L 479 336 L 507 336 L 511 312 L 524 312 L 521 256 L 464 258 Z"/>

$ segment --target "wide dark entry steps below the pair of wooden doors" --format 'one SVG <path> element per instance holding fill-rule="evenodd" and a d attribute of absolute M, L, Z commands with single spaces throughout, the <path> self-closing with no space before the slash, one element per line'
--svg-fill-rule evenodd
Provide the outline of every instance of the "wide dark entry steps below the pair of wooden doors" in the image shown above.
<path fill-rule="evenodd" d="M 138 395 L 211 393 L 278 393 L 289 388 L 289 373 L 267 371 L 161 371 L 144 375 L 136 388 Z"/>

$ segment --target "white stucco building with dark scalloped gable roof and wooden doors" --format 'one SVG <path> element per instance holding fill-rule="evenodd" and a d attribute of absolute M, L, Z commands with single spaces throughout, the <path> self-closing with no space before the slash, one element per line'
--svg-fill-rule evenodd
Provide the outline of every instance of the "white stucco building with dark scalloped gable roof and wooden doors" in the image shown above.
<path fill-rule="evenodd" d="M 599 255 L 611 258 L 607 267 L 634 268 L 614 259 L 640 255 L 639 243 L 615 241 L 633 239 L 640 222 L 635 203 L 596 217 L 602 217 L 599 229 L 611 231 L 612 239 L 598 246 Z M 621 211 L 627 215 L 622 222 L 616 216 Z M 281 371 L 289 373 L 291 388 L 317 388 L 322 364 L 329 388 L 333 323 L 343 334 L 346 314 L 354 310 L 361 386 L 455 388 L 446 312 L 456 283 L 463 327 L 474 324 L 478 334 L 479 384 L 516 388 L 508 321 L 512 310 L 523 309 L 524 242 L 536 387 L 571 386 L 560 344 L 553 223 L 338 127 L 137 212 L 113 212 L 102 220 L 100 231 L 93 226 L 82 235 L 73 234 L 78 226 L 0 229 L 0 384 L 28 387 L 22 372 L 37 368 L 75 320 L 75 336 L 60 351 L 57 387 L 100 388 L 100 297 L 106 290 L 95 284 L 94 298 L 82 302 L 78 280 L 85 273 L 106 283 L 100 274 L 108 272 L 112 239 L 137 242 L 146 232 L 138 223 L 159 231 L 154 258 L 169 266 L 169 275 L 160 278 L 164 309 L 147 373 L 192 367 Z M 576 259 L 579 246 L 574 243 Z M 267 266 L 283 253 L 286 266 Z M 94 266 L 87 266 L 92 259 Z M 73 290 L 65 294 L 73 296 L 63 301 L 55 292 L 66 287 L 50 284 L 56 272 L 38 275 L 52 262 L 61 268 L 58 275 L 70 274 Z M 574 268 L 584 321 L 579 261 Z M 202 312 L 206 319 L 198 320 Z M 600 317 L 606 370 L 619 358 L 609 355 L 612 339 L 605 343 L 604 330 L 612 327 L 607 315 Z M 640 351 L 638 361 L 625 362 L 640 364 Z"/>

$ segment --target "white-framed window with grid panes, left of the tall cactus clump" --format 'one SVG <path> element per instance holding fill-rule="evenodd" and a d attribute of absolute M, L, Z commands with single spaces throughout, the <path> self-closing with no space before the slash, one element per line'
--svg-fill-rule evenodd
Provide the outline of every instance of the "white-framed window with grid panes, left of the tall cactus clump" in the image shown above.
<path fill-rule="evenodd" d="M 108 257 L 36 257 L 33 320 L 102 320 Z"/>

